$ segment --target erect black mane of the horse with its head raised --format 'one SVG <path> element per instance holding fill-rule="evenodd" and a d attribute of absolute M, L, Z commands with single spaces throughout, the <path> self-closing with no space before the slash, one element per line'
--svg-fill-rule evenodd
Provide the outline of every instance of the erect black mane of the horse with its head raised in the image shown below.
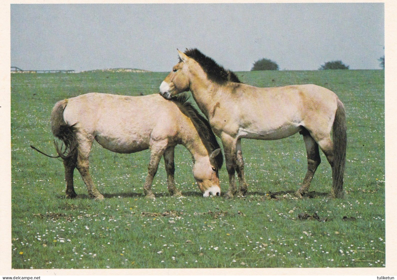
<path fill-rule="evenodd" d="M 239 78 L 235 73 L 230 70 L 226 70 L 214 61 L 202 54 L 199 50 L 187 49 L 185 54 L 189 58 L 193 58 L 202 67 L 204 72 L 207 74 L 208 79 L 217 82 L 218 84 L 225 84 L 226 82 L 240 82 Z"/>

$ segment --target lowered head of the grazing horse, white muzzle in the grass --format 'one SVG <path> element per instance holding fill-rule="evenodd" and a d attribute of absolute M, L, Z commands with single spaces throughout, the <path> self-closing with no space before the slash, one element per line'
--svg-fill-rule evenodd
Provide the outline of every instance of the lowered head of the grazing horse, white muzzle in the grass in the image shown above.
<path fill-rule="evenodd" d="M 220 148 L 211 153 L 209 161 L 208 158 L 202 158 L 202 160 L 195 161 L 195 165 L 193 166 L 193 176 L 204 197 L 221 195 L 219 167 L 218 160 L 216 159 L 218 156 L 222 157 Z"/>

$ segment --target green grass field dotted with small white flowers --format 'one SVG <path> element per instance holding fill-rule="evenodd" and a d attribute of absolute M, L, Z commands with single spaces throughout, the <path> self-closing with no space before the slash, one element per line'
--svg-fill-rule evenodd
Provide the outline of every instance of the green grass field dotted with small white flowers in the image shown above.
<path fill-rule="evenodd" d="M 76 199 L 65 199 L 64 168 L 29 148 L 54 153 L 50 111 L 87 92 L 152 94 L 167 73 L 12 74 L 12 268 L 385 267 L 384 71 L 239 72 L 255 86 L 313 83 L 347 109 L 344 199 L 327 199 L 324 154 L 310 194 L 296 199 L 306 172 L 302 136 L 243 140 L 245 198 L 202 198 L 191 155 L 175 150 L 169 196 L 164 162 L 143 184 L 149 152 L 112 153 L 93 145 L 90 169 L 104 201 L 88 198 L 75 171 Z M 221 188 L 228 188 L 225 167 Z M 318 215 L 317 218 L 299 219 Z"/>

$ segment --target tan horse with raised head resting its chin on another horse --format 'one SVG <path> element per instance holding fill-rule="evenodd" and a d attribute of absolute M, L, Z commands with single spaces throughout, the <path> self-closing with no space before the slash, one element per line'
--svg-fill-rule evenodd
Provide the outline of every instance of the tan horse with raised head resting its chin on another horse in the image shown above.
<path fill-rule="evenodd" d="M 245 196 L 247 192 L 241 138 L 276 140 L 297 132 L 303 135 L 308 167 L 295 194 L 302 197 L 308 192 L 320 164 L 320 146 L 332 169 L 331 197 L 343 198 L 346 119 L 344 105 L 335 93 L 314 84 L 258 88 L 241 83 L 233 72 L 197 49 L 185 53 L 178 50 L 178 54 L 179 63 L 161 83 L 160 93 L 170 99 L 190 90 L 212 130 L 221 138 L 229 174 L 227 198 Z"/>

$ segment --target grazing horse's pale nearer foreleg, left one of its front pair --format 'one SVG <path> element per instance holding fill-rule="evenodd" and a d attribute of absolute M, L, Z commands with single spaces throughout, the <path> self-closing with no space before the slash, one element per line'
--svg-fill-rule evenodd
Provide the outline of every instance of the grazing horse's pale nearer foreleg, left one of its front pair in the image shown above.
<path fill-rule="evenodd" d="M 143 194 L 146 198 L 156 199 L 152 192 L 152 182 L 156 175 L 160 159 L 167 148 L 168 140 L 162 140 L 150 145 L 150 161 L 148 166 L 148 176 L 146 176 L 145 185 L 143 186 Z"/>

